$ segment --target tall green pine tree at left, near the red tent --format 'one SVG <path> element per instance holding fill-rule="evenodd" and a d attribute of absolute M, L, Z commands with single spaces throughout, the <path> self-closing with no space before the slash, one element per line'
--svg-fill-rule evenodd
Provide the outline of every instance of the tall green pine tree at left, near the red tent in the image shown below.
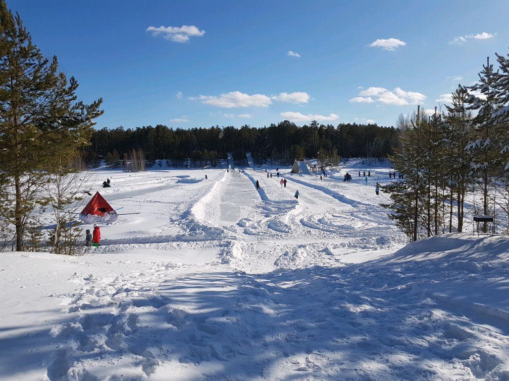
<path fill-rule="evenodd" d="M 89 144 L 92 119 L 102 111 L 101 99 L 76 102 L 74 78 L 58 72 L 33 44 L 18 14 L 0 1 L 0 172 L 10 189 L 4 206 L 16 228 L 16 250 L 23 250 L 27 216 L 43 203 L 44 178 L 62 156 Z M 72 156 L 72 155 L 71 155 Z M 69 157 L 70 158 L 70 157 Z"/>

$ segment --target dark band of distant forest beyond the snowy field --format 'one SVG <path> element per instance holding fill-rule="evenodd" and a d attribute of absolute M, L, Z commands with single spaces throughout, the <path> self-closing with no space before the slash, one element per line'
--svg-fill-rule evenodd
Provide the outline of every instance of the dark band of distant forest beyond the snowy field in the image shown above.
<path fill-rule="evenodd" d="M 103 128 L 93 132 L 91 145 L 84 149 L 84 158 L 97 164 L 104 158 L 108 165 L 122 161 L 133 149 L 143 150 L 147 162 L 167 160 L 172 166 L 182 166 L 186 158 L 191 165 L 217 165 L 232 152 L 237 163 L 250 151 L 253 160 L 270 160 L 290 165 L 298 157 L 376 157 L 393 153 L 398 144 L 398 130 L 376 124 L 342 123 L 337 126 L 319 124 L 297 126 L 288 120 L 263 128 L 244 125 L 220 128 L 172 129 L 158 124 L 136 129 Z"/>

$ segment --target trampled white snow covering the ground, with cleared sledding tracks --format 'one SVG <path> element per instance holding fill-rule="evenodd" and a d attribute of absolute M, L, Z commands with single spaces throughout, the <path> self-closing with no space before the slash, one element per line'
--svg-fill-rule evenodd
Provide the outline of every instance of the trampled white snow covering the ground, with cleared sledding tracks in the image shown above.
<path fill-rule="evenodd" d="M 509 238 L 405 246 L 388 168 L 268 170 L 97 171 L 140 214 L 0 255 L 0 378 L 509 379 Z"/>

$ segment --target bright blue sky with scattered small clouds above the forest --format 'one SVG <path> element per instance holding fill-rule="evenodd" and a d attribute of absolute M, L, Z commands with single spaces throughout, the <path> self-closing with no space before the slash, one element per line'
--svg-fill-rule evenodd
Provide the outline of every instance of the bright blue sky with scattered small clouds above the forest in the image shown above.
<path fill-rule="evenodd" d="M 103 98 L 97 128 L 392 125 L 475 81 L 486 57 L 509 46 L 506 0 L 8 6 L 76 77 L 83 101 Z"/>

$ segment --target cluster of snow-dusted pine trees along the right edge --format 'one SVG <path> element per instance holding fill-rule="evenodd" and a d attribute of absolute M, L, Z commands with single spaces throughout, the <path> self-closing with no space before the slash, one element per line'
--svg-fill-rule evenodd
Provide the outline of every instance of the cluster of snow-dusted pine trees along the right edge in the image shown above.
<path fill-rule="evenodd" d="M 417 108 L 398 120 L 389 157 L 404 180 L 385 186 L 386 206 L 411 241 L 463 232 L 465 208 L 494 218 L 480 223 L 482 232 L 509 233 L 509 55 L 496 57 L 498 67 L 488 58 L 442 113 Z"/>

